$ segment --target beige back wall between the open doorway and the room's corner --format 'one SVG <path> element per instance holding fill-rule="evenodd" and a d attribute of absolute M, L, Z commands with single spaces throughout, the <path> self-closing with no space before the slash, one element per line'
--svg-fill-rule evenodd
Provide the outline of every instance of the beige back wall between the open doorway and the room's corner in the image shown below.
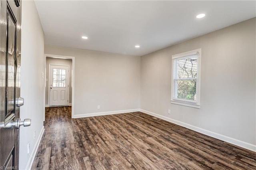
<path fill-rule="evenodd" d="M 140 57 L 54 45 L 44 52 L 75 57 L 75 117 L 139 109 Z"/>

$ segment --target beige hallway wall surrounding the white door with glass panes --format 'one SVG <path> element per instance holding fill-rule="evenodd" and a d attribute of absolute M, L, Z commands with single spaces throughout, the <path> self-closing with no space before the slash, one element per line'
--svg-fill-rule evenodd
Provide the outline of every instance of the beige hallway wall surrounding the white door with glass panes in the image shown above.
<path fill-rule="evenodd" d="M 68 99 L 68 104 L 72 103 L 72 59 L 59 59 L 59 58 L 51 58 L 51 57 L 46 57 L 46 84 L 45 84 L 45 105 L 49 105 L 48 103 L 48 71 L 49 71 L 49 64 L 60 64 L 60 65 L 69 65 L 69 99 Z"/>

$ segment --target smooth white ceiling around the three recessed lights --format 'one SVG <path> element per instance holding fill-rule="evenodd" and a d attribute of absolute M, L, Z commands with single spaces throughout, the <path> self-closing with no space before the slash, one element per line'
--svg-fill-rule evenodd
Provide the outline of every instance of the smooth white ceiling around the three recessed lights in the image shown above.
<path fill-rule="evenodd" d="M 36 7 L 46 44 L 139 56 L 256 16 L 255 0 L 36 0 Z"/>

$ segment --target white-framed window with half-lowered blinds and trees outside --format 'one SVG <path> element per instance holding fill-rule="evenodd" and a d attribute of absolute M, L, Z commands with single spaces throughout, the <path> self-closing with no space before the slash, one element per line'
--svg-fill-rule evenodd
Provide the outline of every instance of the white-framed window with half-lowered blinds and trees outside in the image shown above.
<path fill-rule="evenodd" d="M 171 103 L 200 108 L 201 49 L 172 55 Z"/>

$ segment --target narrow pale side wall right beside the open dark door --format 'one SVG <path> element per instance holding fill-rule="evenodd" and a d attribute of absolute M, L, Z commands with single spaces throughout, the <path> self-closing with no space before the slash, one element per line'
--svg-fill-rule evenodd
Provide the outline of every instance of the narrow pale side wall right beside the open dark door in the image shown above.
<path fill-rule="evenodd" d="M 20 118 L 31 119 L 30 127 L 20 127 L 20 170 L 28 169 L 30 154 L 36 147 L 43 128 L 44 113 L 44 32 L 34 1 L 22 1 L 21 32 L 21 92 L 24 105 L 20 107 Z M 34 130 L 36 138 L 34 139 Z"/>

